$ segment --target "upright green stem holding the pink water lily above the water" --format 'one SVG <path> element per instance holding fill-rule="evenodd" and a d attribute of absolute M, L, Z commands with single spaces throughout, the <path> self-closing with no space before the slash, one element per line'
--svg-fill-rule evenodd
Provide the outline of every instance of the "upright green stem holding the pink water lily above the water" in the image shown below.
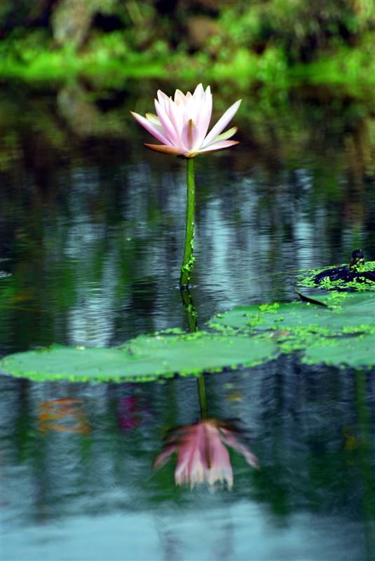
<path fill-rule="evenodd" d="M 187 201 L 186 201 L 186 234 L 184 259 L 182 260 L 181 276 L 179 278 L 180 288 L 187 288 L 191 271 L 193 270 L 194 248 L 194 217 L 196 213 L 196 180 L 194 176 L 194 158 L 187 158 Z"/>

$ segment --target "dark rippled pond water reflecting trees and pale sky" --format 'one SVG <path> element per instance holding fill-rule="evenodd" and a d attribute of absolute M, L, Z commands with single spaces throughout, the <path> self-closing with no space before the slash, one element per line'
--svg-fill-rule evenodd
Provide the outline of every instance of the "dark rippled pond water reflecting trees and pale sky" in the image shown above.
<path fill-rule="evenodd" d="M 151 110 L 159 86 L 4 88 L 3 356 L 189 330 L 177 287 L 185 163 L 146 151 L 128 114 Z M 369 105 L 322 91 L 244 97 L 234 124 L 237 147 L 196 158 L 200 327 L 236 305 L 294 300 L 297 271 L 354 248 L 375 260 Z M 233 489 L 216 492 L 176 487 L 173 458 L 152 468 L 165 434 L 200 417 L 196 379 L 4 374 L 2 558 L 370 561 L 374 374 L 283 356 L 205 376 L 210 417 L 231 419 L 260 466 L 231 450 Z"/>

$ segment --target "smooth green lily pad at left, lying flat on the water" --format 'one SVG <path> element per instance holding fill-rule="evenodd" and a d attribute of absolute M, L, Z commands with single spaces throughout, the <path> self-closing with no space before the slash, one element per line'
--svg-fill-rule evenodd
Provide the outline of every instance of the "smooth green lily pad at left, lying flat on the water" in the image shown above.
<path fill-rule="evenodd" d="M 174 374 L 198 376 L 239 365 L 252 366 L 278 355 L 266 339 L 224 334 L 140 335 L 121 347 L 69 347 L 15 353 L 4 358 L 6 374 L 33 380 L 150 381 Z"/>

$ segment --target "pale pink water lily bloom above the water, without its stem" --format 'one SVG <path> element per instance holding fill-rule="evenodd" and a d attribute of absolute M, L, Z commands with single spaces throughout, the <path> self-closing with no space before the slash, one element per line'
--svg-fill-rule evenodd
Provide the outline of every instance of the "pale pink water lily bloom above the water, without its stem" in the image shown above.
<path fill-rule="evenodd" d="M 237 140 L 228 140 L 237 131 L 237 127 L 230 128 L 225 133 L 222 130 L 233 119 L 241 100 L 236 101 L 216 125 L 207 134 L 212 114 L 212 93 L 210 86 L 203 90 L 200 83 L 193 95 L 190 92 L 175 91 L 175 97 L 168 97 L 158 90 L 155 100 L 156 115 L 146 113 L 142 117 L 133 111 L 132 116 L 146 130 L 163 144 L 144 144 L 147 148 L 165 154 L 193 158 L 197 154 L 205 154 L 217 150 L 224 150 L 238 144 Z"/>

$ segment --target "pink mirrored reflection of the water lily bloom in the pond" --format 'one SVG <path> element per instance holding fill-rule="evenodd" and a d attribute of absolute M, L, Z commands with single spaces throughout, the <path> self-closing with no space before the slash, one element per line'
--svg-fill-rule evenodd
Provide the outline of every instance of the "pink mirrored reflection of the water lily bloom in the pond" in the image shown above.
<path fill-rule="evenodd" d="M 238 440 L 236 428 L 226 421 L 215 419 L 203 419 L 197 424 L 172 431 L 166 439 L 163 452 L 154 461 L 154 468 L 161 468 L 171 454 L 177 452 L 176 485 L 190 483 L 193 488 L 204 482 L 210 487 L 216 483 L 226 483 L 231 489 L 233 470 L 226 446 L 243 454 L 250 466 L 259 468 L 257 457 Z"/>

